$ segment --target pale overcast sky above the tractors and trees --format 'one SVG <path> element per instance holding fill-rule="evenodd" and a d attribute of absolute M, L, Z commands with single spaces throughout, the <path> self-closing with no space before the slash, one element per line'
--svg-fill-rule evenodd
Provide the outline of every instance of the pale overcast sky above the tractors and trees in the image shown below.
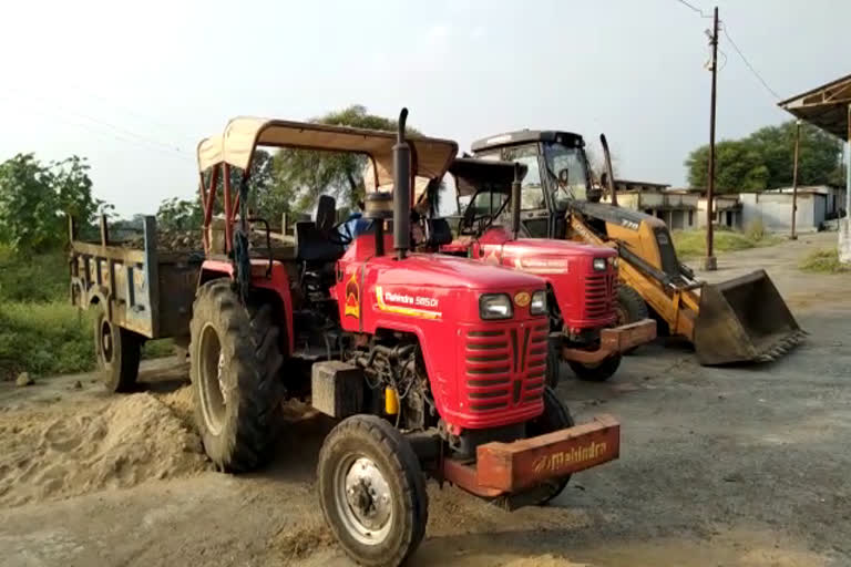
<path fill-rule="evenodd" d="M 847 0 L 719 8 L 781 97 L 851 72 Z M 0 159 L 86 156 L 123 215 L 196 195 L 195 144 L 239 114 L 406 105 L 461 148 L 522 127 L 605 132 L 622 177 L 674 185 L 708 141 L 711 20 L 676 0 L 31 0 L 0 14 Z M 724 35 L 720 49 L 718 137 L 787 120 Z"/>

